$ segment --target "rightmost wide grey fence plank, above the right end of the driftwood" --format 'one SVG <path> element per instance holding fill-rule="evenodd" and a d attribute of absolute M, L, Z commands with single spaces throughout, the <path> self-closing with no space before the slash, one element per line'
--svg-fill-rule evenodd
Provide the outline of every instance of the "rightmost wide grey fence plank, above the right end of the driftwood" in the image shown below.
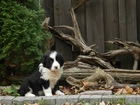
<path fill-rule="evenodd" d="M 136 0 L 126 0 L 127 40 L 137 41 Z"/>

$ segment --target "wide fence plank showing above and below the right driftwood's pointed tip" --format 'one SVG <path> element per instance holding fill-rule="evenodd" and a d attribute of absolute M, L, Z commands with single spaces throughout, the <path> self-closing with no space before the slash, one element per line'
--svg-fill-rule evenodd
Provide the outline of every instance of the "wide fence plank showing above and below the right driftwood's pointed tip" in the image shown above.
<path fill-rule="evenodd" d="M 118 21 L 118 0 L 104 0 L 105 41 L 119 37 Z M 105 48 L 106 51 L 113 50 L 114 46 L 105 44 Z"/>

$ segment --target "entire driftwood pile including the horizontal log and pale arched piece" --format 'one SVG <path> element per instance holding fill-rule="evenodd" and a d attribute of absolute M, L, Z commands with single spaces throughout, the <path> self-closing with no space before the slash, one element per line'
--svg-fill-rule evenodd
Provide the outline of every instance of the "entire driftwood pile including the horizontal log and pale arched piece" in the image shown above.
<path fill-rule="evenodd" d="M 122 83 L 124 83 L 124 81 L 129 81 L 129 83 L 130 81 L 140 82 L 140 71 L 137 71 L 138 61 L 140 59 L 139 44 L 115 39 L 114 41 L 107 41 L 106 43 L 117 45 L 119 49 L 102 54 L 98 53 L 93 49 L 95 45 L 88 46 L 82 38 L 73 8 L 70 9 L 70 14 L 73 27 L 66 25 L 47 27 L 56 38 L 76 46 L 81 52 L 81 55 L 79 55 L 76 60 L 65 63 L 62 78 L 66 79 L 68 76 L 72 76 L 66 79 L 67 82 L 72 85 L 78 84 L 79 86 L 81 81 L 98 81 L 99 79 L 104 79 L 106 81 L 105 85 L 113 85 L 115 87 L 123 87 L 126 85 L 116 82 L 115 79 L 118 79 L 119 82 Z M 73 34 L 66 34 L 61 31 L 61 28 L 68 29 L 72 31 Z M 111 62 L 115 62 L 117 57 L 123 55 L 132 55 L 134 57 L 133 70 L 135 71 L 116 69 L 113 67 Z M 104 71 L 95 71 L 97 67 L 104 69 Z M 76 86 L 78 87 L 78 85 Z M 135 87 L 134 85 L 131 86 Z"/>

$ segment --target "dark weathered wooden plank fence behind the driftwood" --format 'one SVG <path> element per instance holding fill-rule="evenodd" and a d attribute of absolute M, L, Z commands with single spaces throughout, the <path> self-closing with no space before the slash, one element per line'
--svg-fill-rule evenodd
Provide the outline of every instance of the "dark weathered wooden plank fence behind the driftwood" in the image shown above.
<path fill-rule="evenodd" d="M 51 18 L 50 25 L 72 26 L 69 9 L 77 3 L 77 0 L 44 0 L 43 7 L 46 16 Z M 96 44 L 94 49 L 100 53 L 115 49 L 114 46 L 104 43 L 115 38 L 140 42 L 139 4 L 140 0 L 89 0 L 75 11 L 82 37 L 88 45 Z M 70 33 L 66 30 L 65 32 Z M 79 53 L 74 46 L 59 39 L 55 43 L 56 50 L 66 60 L 74 60 Z M 119 60 L 122 68 L 133 65 L 131 57 L 125 56 Z"/>

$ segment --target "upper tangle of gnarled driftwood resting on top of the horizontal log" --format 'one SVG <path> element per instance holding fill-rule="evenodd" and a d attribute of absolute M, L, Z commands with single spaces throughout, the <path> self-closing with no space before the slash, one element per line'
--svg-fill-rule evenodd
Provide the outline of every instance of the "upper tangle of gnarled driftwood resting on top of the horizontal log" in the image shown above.
<path fill-rule="evenodd" d="M 88 46 L 84 39 L 82 38 L 74 10 L 70 10 L 72 17 L 73 27 L 61 25 L 51 27 L 49 26 L 50 31 L 55 35 L 55 37 L 64 40 L 67 43 L 71 43 L 79 48 L 82 55 L 78 56 L 75 62 L 83 62 L 90 64 L 91 66 L 96 65 L 103 69 L 112 69 L 114 68 L 110 62 L 115 62 L 116 58 L 123 55 L 132 55 L 134 57 L 133 70 L 138 68 L 138 61 L 140 59 L 140 45 L 134 42 L 126 42 L 119 39 L 115 41 L 107 41 L 107 43 L 115 44 L 119 47 L 117 50 L 109 51 L 106 53 L 98 53 L 93 49 L 94 45 Z M 69 29 L 73 32 L 73 35 L 68 35 L 63 33 L 58 28 Z M 71 65 L 72 66 L 72 65 Z"/>

